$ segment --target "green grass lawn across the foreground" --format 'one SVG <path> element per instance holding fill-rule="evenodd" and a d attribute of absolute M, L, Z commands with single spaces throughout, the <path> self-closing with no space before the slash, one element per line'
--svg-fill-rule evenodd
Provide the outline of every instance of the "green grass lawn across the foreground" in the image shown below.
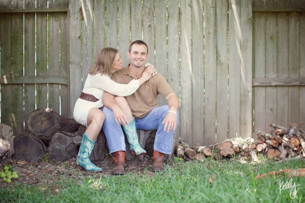
<path fill-rule="evenodd" d="M 60 176 L 58 181 L 46 181 L 43 187 L 0 183 L 0 202 L 304 202 L 303 177 L 288 179 L 282 175 L 254 180 L 258 174 L 304 166 L 303 160 L 276 163 L 266 159 L 260 164 L 242 164 L 211 159 L 183 162 L 175 157 L 162 173 Z M 300 184 L 295 198 L 290 198 L 291 188 L 280 194 L 280 180 Z"/>

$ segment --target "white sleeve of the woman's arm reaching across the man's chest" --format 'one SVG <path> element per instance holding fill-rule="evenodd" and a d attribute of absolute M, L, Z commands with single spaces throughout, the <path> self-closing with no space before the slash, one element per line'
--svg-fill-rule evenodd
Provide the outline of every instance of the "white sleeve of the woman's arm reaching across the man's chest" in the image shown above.
<path fill-rule="evenodd" d="M 131 80 L 128 84 L 119 84 L 106 75 L 96 74 L 90 80 L 90 86 L 100 88 L 110 94 L 125 97 L 133 94 L 140 86 L 138 80 Z"/>

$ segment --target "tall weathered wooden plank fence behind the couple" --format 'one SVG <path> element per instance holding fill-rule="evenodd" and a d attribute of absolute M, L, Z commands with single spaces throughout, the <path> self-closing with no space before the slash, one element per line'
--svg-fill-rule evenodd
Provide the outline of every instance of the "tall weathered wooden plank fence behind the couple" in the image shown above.
<path fill-rule="evenodd" d="M 177 141 L 208 145 L 303 123 L 304 87 L 286 86 L 304 85 L 302 1 L 34 2 L 0 3 L 1 122 L 15 135 L 34 109 L 72 117 L 97 52 L 118 48 L 127 65 L 137 39 L 180 98 Z"/>

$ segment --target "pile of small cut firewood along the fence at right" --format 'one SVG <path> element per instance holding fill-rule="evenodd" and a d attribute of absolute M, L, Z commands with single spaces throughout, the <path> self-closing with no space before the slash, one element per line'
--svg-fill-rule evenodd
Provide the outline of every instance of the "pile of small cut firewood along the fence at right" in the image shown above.
<path fill-rule="evenodd" d="M 180 141 L 175 146 L 176 156 L 184 159 L 203 160 L 207 157 L 214 159 L 234 158 L 242 162 L 258 162 L 258 155 L 277 160 L 287 158 L 304 158 L 305 156 L 305 132 L 292 123 L 288 128 L 270 124 L 273 129 L 267 133 L 257 131 L 257 138 L 243 139 L 241 137 L 226 139 L 221 143 L 201 146 L 196 143 L 193 146 Z"/>

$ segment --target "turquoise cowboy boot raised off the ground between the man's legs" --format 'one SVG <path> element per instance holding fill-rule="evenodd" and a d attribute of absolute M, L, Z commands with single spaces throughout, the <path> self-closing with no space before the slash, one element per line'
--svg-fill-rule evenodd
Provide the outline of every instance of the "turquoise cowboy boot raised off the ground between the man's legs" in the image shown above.
<path fill-rule="evenodd" d="M 138 141 L 137 130 L 135 129 L 135 117 L 132 118 L 131 123 L 123 126 L 123 128 L 130 145 L 131 153 L 135 153 L 136 155 L 146 154 L 146 151 L 142 149 Z"/>

